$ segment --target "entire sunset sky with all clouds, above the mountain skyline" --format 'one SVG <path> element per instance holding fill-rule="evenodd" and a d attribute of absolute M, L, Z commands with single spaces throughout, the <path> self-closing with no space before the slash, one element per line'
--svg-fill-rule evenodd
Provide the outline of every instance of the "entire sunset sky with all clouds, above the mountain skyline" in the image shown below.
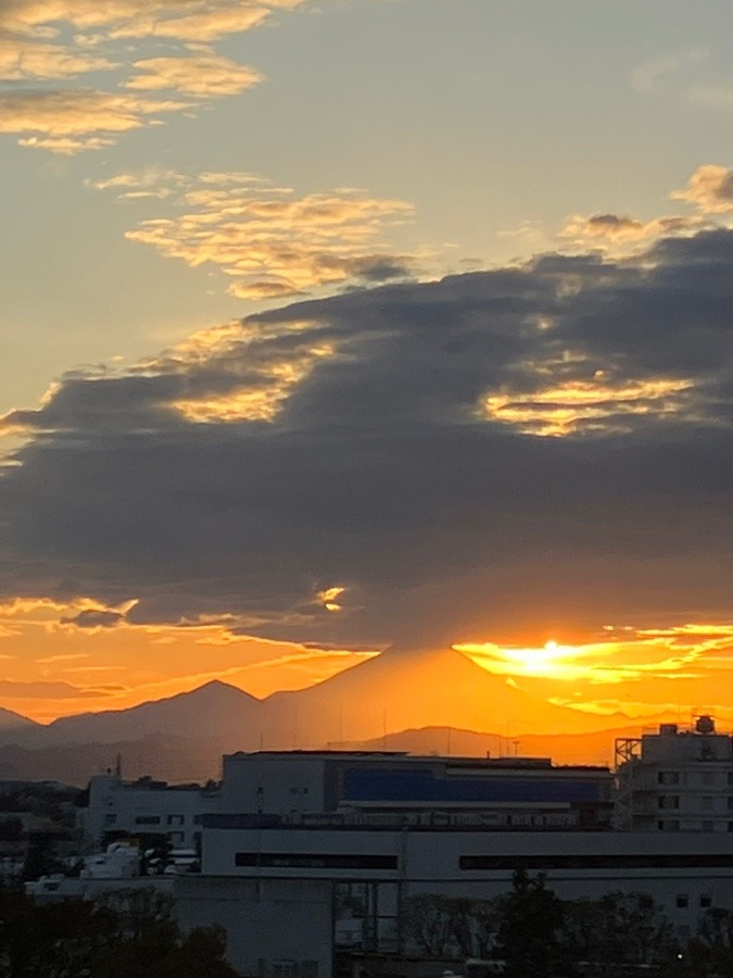
<path fill-rule="evenodd" d="M 5 0 L 0 705 L 454 645 L 733 726 L 725 0 Z"/>

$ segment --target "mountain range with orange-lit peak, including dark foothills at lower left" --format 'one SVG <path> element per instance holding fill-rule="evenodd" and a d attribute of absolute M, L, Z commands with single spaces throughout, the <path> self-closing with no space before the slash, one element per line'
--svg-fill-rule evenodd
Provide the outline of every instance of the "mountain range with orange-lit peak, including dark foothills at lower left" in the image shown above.
<path fill-rule="evenodd" d="M 554 706 L 452 649 L 389 650 L 315 686 L 264 700 L 214 680 L 127 710 L 83 713 L 47 726 L 24 726 L 22 719 L 5 727 L 0 715 L 0 773 L 23 776 L 28 768 L 39 776 L 41 768 L 63 762 L 76 782 L 114 763 L 115 744 L 130 774 L 143 773 L 144 762 L 157 777 L 184 772 L 211 777 L 222 753 L 323 749 L 346 741 L 395 749 L 393 731 L 427 726 L 493 734 L 508 743 L 523 735 L 577 735 L 629 723 Z M 71 754 L 62 757 L 66 749 Z"/>

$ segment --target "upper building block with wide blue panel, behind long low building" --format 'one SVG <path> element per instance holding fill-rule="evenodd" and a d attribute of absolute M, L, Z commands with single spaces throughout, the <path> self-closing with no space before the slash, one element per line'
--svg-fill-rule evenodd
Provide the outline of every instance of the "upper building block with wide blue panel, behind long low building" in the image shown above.
<path fill-rule="evenodd" d="M 420 757 L 397 752 L 260 751 L 224 757 L 220 813 L 291 824 L 610 827 L 605 767 L 543 757 Z"/>

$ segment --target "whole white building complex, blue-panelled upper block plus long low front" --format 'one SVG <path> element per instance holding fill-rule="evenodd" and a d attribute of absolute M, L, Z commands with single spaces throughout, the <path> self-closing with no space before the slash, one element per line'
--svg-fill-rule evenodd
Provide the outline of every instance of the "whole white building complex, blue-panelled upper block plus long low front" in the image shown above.
<path fill-rule="evenodd" d="M 224 926 L 244 975 L 330 978 L 340 951 L 399 950 L 406 898 L 491 899 L 519 867 L 563 899 L 648 892 L 680 936 L 733 908 L 733 836 L 611 831 L 610 789 L 605 768 L 542 758 L 233 754 L 179 917 Z"/>

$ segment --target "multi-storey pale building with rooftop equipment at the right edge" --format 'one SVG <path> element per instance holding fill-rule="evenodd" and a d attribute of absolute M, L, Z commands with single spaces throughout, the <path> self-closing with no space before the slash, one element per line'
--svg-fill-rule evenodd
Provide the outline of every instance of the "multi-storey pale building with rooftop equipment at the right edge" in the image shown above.
<path fill-rule="evenodd" d="M 712 717 L 618 740 L 616 824 L 632 831 L 733 831 L 733 739 Z"/>

